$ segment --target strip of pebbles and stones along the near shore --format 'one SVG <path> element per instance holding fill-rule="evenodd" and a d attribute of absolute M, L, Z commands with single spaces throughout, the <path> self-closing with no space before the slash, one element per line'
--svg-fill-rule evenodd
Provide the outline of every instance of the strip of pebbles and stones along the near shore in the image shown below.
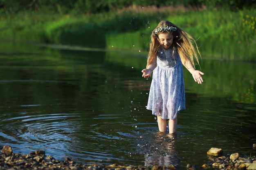
<path fill-rule="evenodd" d="M 212 151 L 213 149 L 213 151 Z M 217 152 L 215 152 L 217 150 Z M 211 148 L 207 154 L 209 162 L 204 163 L 201 167 L 204 169 L 214 168 L 222 170 L 256 170 L 256 157 L 240 157 L 239 153 L 227 154 L 222 156 L 222 149 Z M 212 155 L 212 156 L 211 156 Z M 188 164 L 188 170 L 196 170 L 196 165 Z M 69 157 L 65 160 L 56 160 L 52 156 L 46 156 L 45 151 L 34 151 L 29 154 L 14 154 L 11 146 L 4 146 L 0 155 L 0 170 L 164 170 L 180 169 L 170 165 L 169 167 L 154 166 L 122 166 L 118 164 L 87 165 L 75 163 Z"/>

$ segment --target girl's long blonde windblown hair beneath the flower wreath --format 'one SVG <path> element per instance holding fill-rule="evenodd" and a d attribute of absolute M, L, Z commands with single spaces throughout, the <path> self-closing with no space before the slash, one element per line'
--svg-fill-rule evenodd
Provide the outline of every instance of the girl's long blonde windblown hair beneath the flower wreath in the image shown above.
<path fill-rule="evenodd" d="M 175 49 L 177 49 L 178 54 L 180 55 L 180 59 L 184 66 L 186 66 L 186 58 L 190 60 L 190 62 L 195 67 L 195 61 L 199 64 L 198 56 L 201 57 L 201 54 L 198 50 L 198 46 L 195 42 L 195 39 L 177 27 L 175 24 L 169 22 L 169 21 L 161 21 L 157 25 L 157 27 L 152 31 L 151 33 L 151 42 L 149 45 L 149 53 L 148 53 L 148 60 L 147 60 L 147 66 L 153 62 L 157 55 L 157 50 L 161 46 L 159 42 L 158 35 L 159 33 L 163 33 L 166 31 L 160 31 L 157 34 L 155 34 L 155 30 L 159 27 L 165 27 L 165 26 L 173 26 L 177 28 L 177 31 L 170 31 L 170 33 L 173 34 L 173 53 Z M 195 46 L 193 45 L 195 44 Z"/>

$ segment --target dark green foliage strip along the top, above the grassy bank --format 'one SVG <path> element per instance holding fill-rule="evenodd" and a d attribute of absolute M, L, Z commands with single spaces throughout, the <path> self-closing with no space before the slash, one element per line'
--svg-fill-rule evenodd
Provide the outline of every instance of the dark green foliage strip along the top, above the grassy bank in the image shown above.
<path fill-rule="evenodd" d="M 0 6 L 6 13 L 19 11 L 52 11 L 60 14 L 102 13 L 130 6 L 178 6 L 185 7 L 226 7 L 243 9 L 256 7 L 256 0 L 0 0 Z"/>

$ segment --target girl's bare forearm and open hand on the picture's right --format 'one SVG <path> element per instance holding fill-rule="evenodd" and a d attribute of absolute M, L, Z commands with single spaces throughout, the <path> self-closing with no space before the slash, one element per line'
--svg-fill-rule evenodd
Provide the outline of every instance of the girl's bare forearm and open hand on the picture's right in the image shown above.
<path fill-rule="evenodd" d="M 186 61 L 185 61 L 185 63 L 183 63 L 183 65 L 191 73 L 195 82 L 198 82 L 198 84 L 202 84 L 204 82 L 203 78 L 201 76 L 201 75 L 204 75 L 204 73 L 199 70 L 195 70 L 195 67 L 193 66 L 193 64 L 191 63 L 191 61 L 188 58 L 186 58 Z"/>

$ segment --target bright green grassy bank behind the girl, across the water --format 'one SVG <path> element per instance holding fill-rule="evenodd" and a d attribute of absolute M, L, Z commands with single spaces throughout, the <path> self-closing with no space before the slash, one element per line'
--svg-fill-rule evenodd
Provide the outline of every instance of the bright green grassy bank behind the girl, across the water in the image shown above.
<path fill-rule="evenodd" d="M 2 15 L 0 38 L 91 48 L 147 51 L 150 33 L 170 20 L 198 39 L 203 57 L 256 61 L 256 11 L 130 7 L 115 13 Z"/>

